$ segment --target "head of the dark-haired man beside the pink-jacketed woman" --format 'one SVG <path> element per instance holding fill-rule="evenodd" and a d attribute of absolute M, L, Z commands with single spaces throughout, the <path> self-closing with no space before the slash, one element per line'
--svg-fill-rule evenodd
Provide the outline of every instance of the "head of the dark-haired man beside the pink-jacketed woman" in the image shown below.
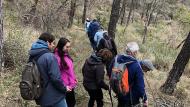
<path fill-rule="evenodd" d="M 48 48 L 50 50 L 52 50 L 55 47 L 55 37 L 48 32 L 42 33 L 38 39 L 47 42 Z"/>

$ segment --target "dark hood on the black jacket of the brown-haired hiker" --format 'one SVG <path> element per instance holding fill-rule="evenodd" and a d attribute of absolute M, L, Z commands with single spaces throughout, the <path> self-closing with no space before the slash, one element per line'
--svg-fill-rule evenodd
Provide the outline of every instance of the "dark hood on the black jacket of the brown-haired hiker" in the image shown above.
<path fill-rule="evenodd" d="M 99 65 L 99 64 L 103 64 L 102 63 L 102 58 L 96 56 L 95 53 L 92 53 L 92 55 L 87 59 L 87 62 L 89 65 Z"/>

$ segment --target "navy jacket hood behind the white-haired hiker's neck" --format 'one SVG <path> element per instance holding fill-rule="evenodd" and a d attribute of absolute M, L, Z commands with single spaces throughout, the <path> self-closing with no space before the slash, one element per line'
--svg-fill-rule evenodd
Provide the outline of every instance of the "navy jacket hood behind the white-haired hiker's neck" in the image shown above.
<path fill-rule="evenodd" d="M 119 55 L 117 58 L 117 62 L 130 64 L 132 62 L 137 62 L 137 60 L 134 57 L 129 56 L 129 55 Z"/>

